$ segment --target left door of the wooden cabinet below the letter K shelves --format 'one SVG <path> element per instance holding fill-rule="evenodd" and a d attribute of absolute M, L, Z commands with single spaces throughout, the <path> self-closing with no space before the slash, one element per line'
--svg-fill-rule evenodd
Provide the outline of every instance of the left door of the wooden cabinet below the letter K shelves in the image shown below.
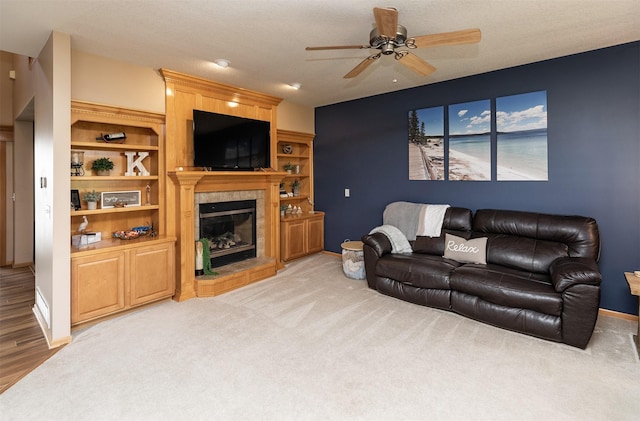
<path fill-rule="evenodd" d="M 125 253 L 71 259 L 71 324 L 125 307 Z"/>

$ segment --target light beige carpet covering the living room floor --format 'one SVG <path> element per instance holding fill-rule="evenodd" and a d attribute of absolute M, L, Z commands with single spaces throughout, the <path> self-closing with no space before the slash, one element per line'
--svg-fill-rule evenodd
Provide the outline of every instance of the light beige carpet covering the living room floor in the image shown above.
<path fill-rule="evenodd" d="M 638 420 L 635 324 L 586 350 L 409 304 L 318 254 L 77 333 L 2 420 Z"/>

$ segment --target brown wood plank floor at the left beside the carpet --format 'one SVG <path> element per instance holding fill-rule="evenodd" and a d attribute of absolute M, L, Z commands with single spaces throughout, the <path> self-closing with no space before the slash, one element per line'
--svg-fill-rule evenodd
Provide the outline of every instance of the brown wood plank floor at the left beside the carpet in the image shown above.
<path fill-rule="evenodd" d="M 0 393 L 62 348 L 49 349 L 34 302 L 31 268 L 0 267 Z"/>

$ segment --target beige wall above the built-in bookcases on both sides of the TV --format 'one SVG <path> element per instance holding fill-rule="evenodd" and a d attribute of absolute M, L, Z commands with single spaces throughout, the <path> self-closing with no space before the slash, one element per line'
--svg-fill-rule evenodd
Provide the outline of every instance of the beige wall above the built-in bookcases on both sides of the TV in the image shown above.
<path fill-rule="evenodd" d="M 165 113 L 165 85 L 157 70 L 73 50 L 71 98 Z M 314 109 L 282 101 L 278 128 L 314 133 Z"/>

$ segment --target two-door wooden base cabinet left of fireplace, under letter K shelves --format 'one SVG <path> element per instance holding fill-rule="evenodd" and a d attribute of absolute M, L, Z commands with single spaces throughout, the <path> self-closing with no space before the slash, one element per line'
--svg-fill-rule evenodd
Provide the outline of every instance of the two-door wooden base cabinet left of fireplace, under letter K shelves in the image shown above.
<path fill-rule="evenodd" d="M 133 240 L 71 258 L 71 324 L 171 297 L 175 242 Z"/>

